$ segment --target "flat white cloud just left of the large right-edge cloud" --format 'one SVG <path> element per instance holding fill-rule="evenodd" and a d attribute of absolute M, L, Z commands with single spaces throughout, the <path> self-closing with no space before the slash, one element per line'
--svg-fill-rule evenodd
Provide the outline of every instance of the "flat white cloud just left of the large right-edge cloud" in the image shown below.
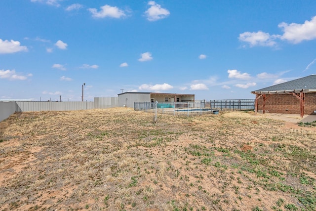
<path fill-rule="evenodd" d="M 259 45 L 259 46 L 276 46 L 274 41 L 276 38 L 280 37 L 279 35 L 270 35 L 265 32 L 244 32 L 239 34 L 239 41 L 247 42 L 250 47 Z"/>

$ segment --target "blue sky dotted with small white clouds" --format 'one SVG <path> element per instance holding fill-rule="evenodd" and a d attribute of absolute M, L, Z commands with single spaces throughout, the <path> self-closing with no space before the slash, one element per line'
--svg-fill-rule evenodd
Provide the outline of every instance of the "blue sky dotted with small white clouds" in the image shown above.
<path fill-rule="evenodd" d="M 1 0 L 0 99 L 246 99 L 316 73 L 315 0 Z M 61 96 L 60 96 L 61 95 Z"/>

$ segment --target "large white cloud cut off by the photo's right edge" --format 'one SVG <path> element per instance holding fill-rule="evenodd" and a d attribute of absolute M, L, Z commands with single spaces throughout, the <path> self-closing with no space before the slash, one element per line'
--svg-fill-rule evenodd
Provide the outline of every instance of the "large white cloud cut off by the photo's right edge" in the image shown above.
<path fill-rule="evenodd" d="M 305 40 L 316 39 L 316 16 L 311 21 L 305 21 L 303 24 L 282 22 L 278 27 L 284 31 L 284 34 L 281 36 L 282 40 L 299 43 Z"/>

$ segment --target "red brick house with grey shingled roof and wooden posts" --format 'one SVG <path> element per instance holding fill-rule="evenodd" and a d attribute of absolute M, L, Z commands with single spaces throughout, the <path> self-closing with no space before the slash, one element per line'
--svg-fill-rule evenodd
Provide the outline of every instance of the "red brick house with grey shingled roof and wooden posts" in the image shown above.
<path fill-rule="evenodd" d="M 313 114 L 316 110 L 316 75 L 251 91 L 256 94 L 255 114 Z"/>

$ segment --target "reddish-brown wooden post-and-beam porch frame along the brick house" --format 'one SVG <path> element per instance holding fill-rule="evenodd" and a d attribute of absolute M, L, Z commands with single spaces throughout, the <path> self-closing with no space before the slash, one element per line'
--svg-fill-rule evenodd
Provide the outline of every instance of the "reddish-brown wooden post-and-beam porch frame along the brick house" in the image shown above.
<path fill-rule="evenodd" d="M 255 115 L 257 115 L 258 112 L 258 99 L 260 97 L 263 98 L 263 105 L 262 105 L 262 110 L 263 113 L 265 113 L 265 106 L 266 106 L 266 100 L 269 99 L 273 94 L 292 94 L 294 97 L 298 98 L 300 100 L 300 114 L 301 117 L 303 118 L 304 116 L 304 106 L 305 106 L 305 92 L 304 89 L 302 90 L 285 90 L 285 91 L 259 91 L 259 92 L 252 92 L 256 94 L 256 99 L 255 99 Z"/>

